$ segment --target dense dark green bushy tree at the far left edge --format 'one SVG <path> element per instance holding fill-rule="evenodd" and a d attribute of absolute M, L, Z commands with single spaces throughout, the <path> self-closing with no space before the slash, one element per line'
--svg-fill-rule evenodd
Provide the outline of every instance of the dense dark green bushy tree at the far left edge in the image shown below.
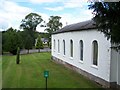
<path fill-rule="evenodd" d="M 22 37 L 12 27 L 2 33 L 2 49 L 13 55 L 17 53 L 17 47 L 22 48 Z"/>

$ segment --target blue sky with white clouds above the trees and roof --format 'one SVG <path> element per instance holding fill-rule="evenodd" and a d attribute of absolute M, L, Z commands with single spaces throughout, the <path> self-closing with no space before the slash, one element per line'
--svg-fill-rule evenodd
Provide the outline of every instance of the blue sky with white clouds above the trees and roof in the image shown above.
<path fill-rule="evenodd" d="M 9 27 L 19 29 L 21 20 L 31 13 L 37 13 L 48 22 L 50 16 L 61 16 L 63 26 L 90 20 L 93 15 L 87 0 L 0 0 L 0 30 Z M 37 27 L 43 32 L 44 28 Z"/>

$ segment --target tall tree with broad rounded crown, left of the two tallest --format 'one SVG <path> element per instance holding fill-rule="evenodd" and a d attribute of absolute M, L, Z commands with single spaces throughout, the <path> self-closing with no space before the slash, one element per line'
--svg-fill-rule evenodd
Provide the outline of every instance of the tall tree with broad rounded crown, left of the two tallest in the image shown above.
<path fill-rule="evenodd" d="M 42 17 L 36 13 L 30 13 L 25 16 L 25 19 L 22 20 L 20 28 L 27 32 L 31 37 L 33 37 L 34 45 L 35 43 L 35 31 L 36 27 L 43 21 Z"/>

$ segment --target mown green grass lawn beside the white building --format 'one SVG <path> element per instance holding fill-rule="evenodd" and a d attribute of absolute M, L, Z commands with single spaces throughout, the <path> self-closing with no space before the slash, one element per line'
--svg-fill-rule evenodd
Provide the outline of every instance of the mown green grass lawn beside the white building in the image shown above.
<path fill-rule="evenodd" d="M 3 88 L 45 88 L 44 70 L 49 71 L 48 88 L 100 88 L 80 74 L 56 64 L 50 53 L 2 57 Z"/>

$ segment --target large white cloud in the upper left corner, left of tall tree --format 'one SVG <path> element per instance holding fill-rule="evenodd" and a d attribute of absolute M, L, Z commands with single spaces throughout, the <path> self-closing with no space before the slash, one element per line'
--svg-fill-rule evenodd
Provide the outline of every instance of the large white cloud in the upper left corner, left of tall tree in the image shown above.
<path fill-rule="evenodd" d="M 21 20 L 33 11 L 30 8 L 19 6 L 15 2 L 8 0 L 2 0 L 0 8 L 2 8 L 0 10 L 0 18 L 2 18 L 0 23 L 5 22 L 4 25 L 0 24 L 0 27 L 5 27 L 6 29 L 9 27 L 19 29 Z"/>

